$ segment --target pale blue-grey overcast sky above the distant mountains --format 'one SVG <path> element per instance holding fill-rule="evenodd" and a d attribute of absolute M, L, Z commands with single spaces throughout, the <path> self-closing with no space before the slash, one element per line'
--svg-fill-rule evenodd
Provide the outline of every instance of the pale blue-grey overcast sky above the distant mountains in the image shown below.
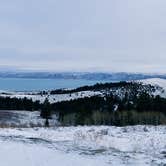
<path fill-rule="evenodd" d="M 166 73 L 165 0 L 0 0 L 0 69 Z"/>

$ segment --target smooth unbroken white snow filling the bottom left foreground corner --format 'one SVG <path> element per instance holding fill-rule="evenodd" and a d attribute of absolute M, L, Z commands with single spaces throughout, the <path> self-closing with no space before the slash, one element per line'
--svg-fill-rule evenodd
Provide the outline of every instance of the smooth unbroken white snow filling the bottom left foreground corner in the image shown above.
<path fill-rule="evenodd" d="M 108 166 L 100 158 L 57 152 L 42 145 L 0 141 L 2 166 Z"/>

